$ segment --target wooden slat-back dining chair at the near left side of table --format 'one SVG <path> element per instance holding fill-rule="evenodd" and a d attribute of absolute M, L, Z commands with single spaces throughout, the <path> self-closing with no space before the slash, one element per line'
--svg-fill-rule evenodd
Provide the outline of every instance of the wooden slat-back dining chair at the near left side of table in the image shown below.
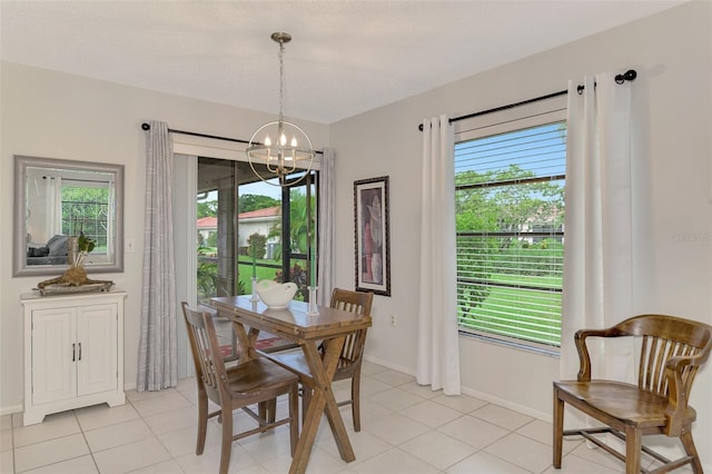
<path fill-rule="evenodd" d="M 222 424 L 220 473 L 230 465 L 233 442 L 277 426 L 289 424 L 289 441 L 294 455 L 298 438 L 298 382 L 291 372 L 266 358 L 239 363 L 226 369 L 220 354 L 212 316 L 190 309 L 182 303 L 188 339 L 196 366 L 198 386 L 198 438 L 196 454 L 205 448 L 208 418 L 218 416 Z M 277 397 L 288 395 L 288 416 L 276 419 Z M 208 413 L 208 401 L 219 409 Z M 250 405 L 258 405 L 256 413 Z M 257 427 L 234 433 L 233 412 L 243 409 L 257 422 Z"/>

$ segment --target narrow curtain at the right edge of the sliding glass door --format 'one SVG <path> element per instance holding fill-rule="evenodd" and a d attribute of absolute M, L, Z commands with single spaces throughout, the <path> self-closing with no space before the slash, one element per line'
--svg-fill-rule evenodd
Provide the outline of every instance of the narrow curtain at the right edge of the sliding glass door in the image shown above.
<path fill-rule="evenodd" d="M 328 306 L 334 288 L 334 150 L 324 149 L 319 169 L 318 304 Z"/>

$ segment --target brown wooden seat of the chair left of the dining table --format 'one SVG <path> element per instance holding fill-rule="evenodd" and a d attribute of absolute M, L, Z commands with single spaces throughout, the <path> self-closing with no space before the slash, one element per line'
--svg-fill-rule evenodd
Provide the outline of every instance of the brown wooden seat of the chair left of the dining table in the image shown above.
<path fill-rule="evenodd" d="M 229 388 L 238 396 L 255 396 L 264 391 L 280 389 L 299 381 L 291 372 L 264 358 L 255 358 L 227 371 Z"/>

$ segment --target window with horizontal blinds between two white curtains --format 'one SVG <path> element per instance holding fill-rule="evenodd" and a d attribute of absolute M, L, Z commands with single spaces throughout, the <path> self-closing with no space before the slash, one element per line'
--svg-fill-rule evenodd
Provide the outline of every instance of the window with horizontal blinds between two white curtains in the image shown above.
<path fill-rule="evenodd" d="M 462 332 L 526 346 L 561 344 L 566 125 L 548 120 L 457 135 Z"/>

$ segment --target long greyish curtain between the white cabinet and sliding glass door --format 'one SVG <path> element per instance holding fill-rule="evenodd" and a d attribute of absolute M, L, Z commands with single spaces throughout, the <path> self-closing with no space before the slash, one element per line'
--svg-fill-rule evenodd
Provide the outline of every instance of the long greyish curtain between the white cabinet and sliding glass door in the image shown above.
<path fill-rule="evenodd" d="M 172 224 L 172 140 L 168 126 L 149 122 L 146 141 L 144 286 L 138 391 L 178 383 Z"/>

